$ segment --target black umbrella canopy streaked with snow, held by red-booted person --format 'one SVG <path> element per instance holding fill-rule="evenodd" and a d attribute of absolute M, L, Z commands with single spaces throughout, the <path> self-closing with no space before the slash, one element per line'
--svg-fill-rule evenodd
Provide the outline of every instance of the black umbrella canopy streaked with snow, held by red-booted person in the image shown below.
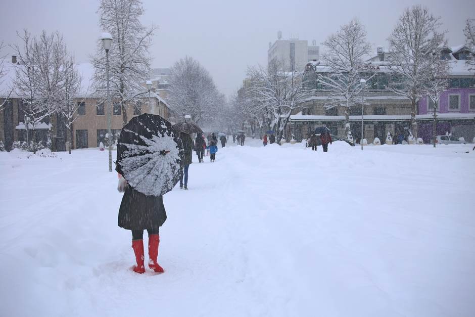
<path fill-rule="evenodd" d="M 116 170 L 129 186 L 147 196 L 161 196 L 180 178 L 183 145 L 170 122 L 144 113 L 120 132 Z"/>

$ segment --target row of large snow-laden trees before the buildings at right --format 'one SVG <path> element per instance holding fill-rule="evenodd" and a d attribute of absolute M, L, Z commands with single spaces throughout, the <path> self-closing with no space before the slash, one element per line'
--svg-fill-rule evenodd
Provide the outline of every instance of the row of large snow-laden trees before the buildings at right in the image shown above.
<path fill-rule="evenodd" d="M 450 63 L 441 58 L 441 48 L 446 46 L 446 31 L 440 31 L 440 18 L 426 8 L 414 6 L 406 9 L 388 37 L 390 59 L 387 65 L 397 80 L 388 82 L 385 89 L 411 102 L 411 126 L 417 138 L 415 115 L 419 99 L 429 96 L 437 105 L 442 92 L 448 87 Z M 475 52 L 473 20 L 464 29 L 467 46 Z M 352 140 L 349 109 L 361 100 L 364 85 L 377 75 L 366 59 L 372 47 L 366 39 L 366 30 L 357 20 L 328 36 L 323 42 L 324 55 L 313 64 L 315 75 L 309 78 L 301 72 L 286 72 L 285 65 L 270 63 L 267 68 L 248 69 L 244 92 L 232 98 L 237 119 L 251 125 L 267 125 L 276 130 L 280 138 L 292 110 L 301 106 L 315 90 L 325 90 L 326 108 L 343 106 L 345 110 L 346 137 Z M 467 61 L 473 63 L 473 60 Z M 307 87 L 307 89 L 304 89 Z M 310 87 L 310 89 L 308 88 Z M 310 90 L 310 91 L 309 91 Z M 313 90 L 313 91 L 312 91 Z M 236 118 L 235 118 L 236 119 Z"/>

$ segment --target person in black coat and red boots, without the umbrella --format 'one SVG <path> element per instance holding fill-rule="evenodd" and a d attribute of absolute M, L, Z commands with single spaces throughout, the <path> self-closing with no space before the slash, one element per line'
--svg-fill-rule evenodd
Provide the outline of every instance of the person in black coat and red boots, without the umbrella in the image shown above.
<path fill-rule="evenodd" d="M 123 177 L 119 165 L 116 165 L 116 171 Z M 163 273 L 164 270 L 158 264 L 157 257 L 160 244 L 159 230 L 166 219 L 167 213 L 162 196 L 147 196 L 126 186 L 120 203 L 118 225 L 132 231 L 132 249 L 137 262 L 133 267 L 135 273 L 145 272 L 144 230 L 149 234 L 149 267 L 157 273 Z"/>

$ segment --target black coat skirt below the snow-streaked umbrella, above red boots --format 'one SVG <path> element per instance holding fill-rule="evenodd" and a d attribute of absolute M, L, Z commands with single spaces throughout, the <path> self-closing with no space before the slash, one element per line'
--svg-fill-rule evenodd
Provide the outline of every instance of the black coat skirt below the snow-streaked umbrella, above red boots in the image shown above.
<path fill-rule="evenodd" d="M 166 219 L 162 196 L 146 196 L 127 186 L 119 208 L 119 227 L 156 230 Z"/>

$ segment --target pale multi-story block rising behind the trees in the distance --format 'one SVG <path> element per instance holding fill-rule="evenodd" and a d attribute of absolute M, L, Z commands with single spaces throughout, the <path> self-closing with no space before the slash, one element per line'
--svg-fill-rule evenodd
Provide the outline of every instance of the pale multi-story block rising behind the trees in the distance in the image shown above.
<path fill-rule="evenodd" d="M 308 45 L 307 40 L 298 38 L 282 39 L 282 32 L 277 33 L 277 40 L 272 44 L 269 42 L 267 51 L 267 62 L 277 61 L 283 63 L 290 71 L 303 69 L 305 65 L 320 58 L 320 47 L 313 40 L 312 45 Z"/>

